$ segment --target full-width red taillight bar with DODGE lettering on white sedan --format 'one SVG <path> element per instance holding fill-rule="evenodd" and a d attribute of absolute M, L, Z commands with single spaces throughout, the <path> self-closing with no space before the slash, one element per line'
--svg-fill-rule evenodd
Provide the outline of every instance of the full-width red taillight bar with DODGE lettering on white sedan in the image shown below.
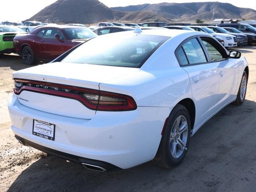
<path fill-rule="evenodd" d="M 137 105 L 131 96 L 61 84 L 14 79 L 14 93 L 23 90 L 78 100 L 87 108 L 100 111 L 129 111 Z"/>

